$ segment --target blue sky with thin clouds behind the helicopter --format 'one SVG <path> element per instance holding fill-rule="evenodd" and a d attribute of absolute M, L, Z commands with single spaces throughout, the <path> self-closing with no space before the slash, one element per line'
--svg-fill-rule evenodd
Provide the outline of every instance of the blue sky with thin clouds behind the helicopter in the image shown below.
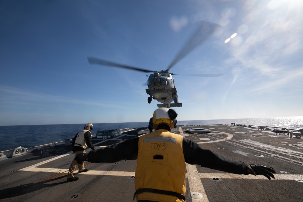
<path fill-rule="evenodd" d="M 148 121 L 146 74 L 164 70 L 201 20 L 221 25 L 179 61 L 178 120 L 303 115 L 303 3 L 0 1 L 0 125 Z M 237 35 L 224 43 L 232 34 Z"/>

